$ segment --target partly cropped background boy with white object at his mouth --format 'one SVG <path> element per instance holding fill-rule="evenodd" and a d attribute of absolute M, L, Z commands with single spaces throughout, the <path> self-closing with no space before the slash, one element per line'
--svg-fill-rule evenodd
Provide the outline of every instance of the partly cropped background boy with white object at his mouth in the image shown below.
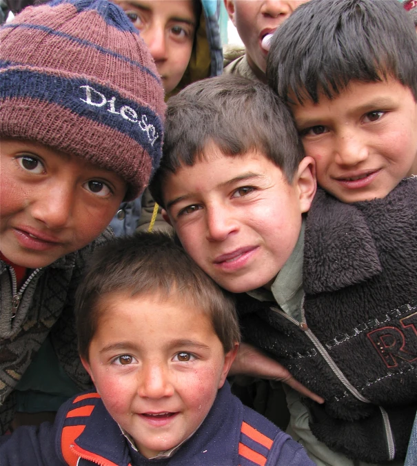
<path fill-rule="evenodd" d="M 276 28 L 294 10 L 308 0 L 224 0 L 230 19 L 245 44 L 244 54 L 228 59 L 226 47 L 225 73 L 238 74 L 266 83 L 265 70 L 269 40 Z"/>

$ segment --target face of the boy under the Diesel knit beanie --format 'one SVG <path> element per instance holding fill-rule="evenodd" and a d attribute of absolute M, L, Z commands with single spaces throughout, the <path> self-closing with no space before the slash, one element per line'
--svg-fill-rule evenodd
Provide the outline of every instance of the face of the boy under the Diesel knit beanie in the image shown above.
<path fill-rule="evenodd" d="M 23 267 L 45 267 L 90 243 L 110 223 L 125 182 L 78 156 L 3 140 L 1 252 Z"/>

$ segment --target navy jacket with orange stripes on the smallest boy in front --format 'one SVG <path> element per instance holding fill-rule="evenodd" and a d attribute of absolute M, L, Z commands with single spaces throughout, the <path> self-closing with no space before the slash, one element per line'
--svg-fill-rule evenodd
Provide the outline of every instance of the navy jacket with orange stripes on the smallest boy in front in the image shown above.
<path fill-rule="evenodd" d="M 243 406 L 227 383 L 199 429 L 171 458 L 148 460 L 137 452 L 96 392 L 62 405 L 54 425 L 19 427 L 0 444 L 0 458 L 1 466 L 314 465 L 301 445 Z"/>

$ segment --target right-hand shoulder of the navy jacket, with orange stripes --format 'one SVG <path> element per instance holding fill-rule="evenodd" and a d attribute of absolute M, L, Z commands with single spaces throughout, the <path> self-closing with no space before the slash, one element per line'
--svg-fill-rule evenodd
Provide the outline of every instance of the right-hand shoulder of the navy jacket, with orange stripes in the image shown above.
<path fill-rule="evenodd" d="M 249 407 L 244 407 L 238 451 L 242 465 L 314 465 L 302 445 Z"/>

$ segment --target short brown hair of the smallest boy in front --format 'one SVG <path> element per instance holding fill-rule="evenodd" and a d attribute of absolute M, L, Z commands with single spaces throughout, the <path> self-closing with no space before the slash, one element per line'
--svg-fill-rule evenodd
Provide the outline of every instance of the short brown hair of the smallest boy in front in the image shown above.
<path fill-rule="evenodd" d="M 105 312 L 106 297 L 154 294 L 184 301 L 210 318 L 214 332 L 229 352 L 240 341 L 232 294 L 225 292 L 163 232 L 117 238 L 94 251 L 75 305 L 79 354 L 88 361 L 90 342 Z"/>

